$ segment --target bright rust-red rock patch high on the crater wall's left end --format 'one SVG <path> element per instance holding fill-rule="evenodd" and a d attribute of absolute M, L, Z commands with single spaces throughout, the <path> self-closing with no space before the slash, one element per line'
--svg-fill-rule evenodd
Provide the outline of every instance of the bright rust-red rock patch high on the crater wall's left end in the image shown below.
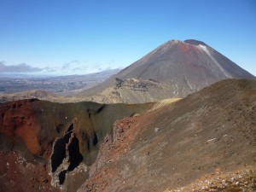
<path fill-rule="evenodd" d="M 26 148 L 39 155 L 41 147 L 38 142 L 40 125 L 32 111 L 32 100 L 5 103 L 0 106 L 0 134 L 15 139 L 21 138 Z"/>

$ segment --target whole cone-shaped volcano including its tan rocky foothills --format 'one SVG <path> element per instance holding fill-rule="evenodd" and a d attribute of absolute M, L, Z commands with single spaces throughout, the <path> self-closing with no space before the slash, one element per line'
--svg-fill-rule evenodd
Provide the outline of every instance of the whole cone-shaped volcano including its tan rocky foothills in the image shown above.
<path fill-rule="evenodd" d="M 185 97 L 222 79 L 254 78 L 201 41 L 172 40 L 79 96 L 94 102 L 154 102 Z"/>

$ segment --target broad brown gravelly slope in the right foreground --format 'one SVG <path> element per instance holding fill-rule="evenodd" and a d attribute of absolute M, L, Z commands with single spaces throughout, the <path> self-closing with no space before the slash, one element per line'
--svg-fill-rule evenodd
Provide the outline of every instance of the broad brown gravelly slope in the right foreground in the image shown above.
<path fill-rule="evenodd" d="M 254 191 L 255 127 L 256 81 L 218 82 L 117 121 L 79 191 Z"/>

